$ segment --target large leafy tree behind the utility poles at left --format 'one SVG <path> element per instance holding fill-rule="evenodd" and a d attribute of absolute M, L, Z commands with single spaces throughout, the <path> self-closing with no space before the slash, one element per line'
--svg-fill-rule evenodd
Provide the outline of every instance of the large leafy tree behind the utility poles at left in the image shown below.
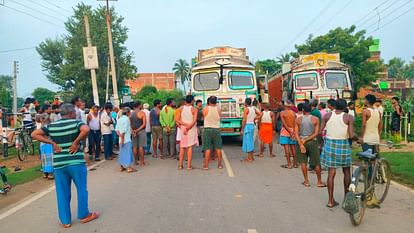
<path fill-rule="evenodd" d="M 73 15 L 66 21 L 67 33 L 56 39 L 46 39 L 37 46 L 42 58 L 42 68 L 49 81 L 57 84 L 63 91 L 81 96 L 88 103 L 93 102 L 92 84 L 89 70 L 83 64 L 82 47 L 87 45 L 84 27 L 84 15 L 89 18 L 92 44 L 98 50 L 99 69 L 96 70 L 99 90 L 106 88 L 108 64 L 108 34 L 106 29 L 106 8 L 92 9 L 83 3 L 74 8 Z M 125 79 L 135 76 L 137 68 L 133 65 L 133 54 L 128 52 L 125 42 L 128 28 L 122 25 L 124 18 L 111 8 L 111 27 L 117 71 L 118 89 L 125 86 Z M 111 84 L 111 83 L 110 83 Z M 110 85 L 112 92 L 112 85 Z M 100 101 L 105 95 L 100 93 Z"/>

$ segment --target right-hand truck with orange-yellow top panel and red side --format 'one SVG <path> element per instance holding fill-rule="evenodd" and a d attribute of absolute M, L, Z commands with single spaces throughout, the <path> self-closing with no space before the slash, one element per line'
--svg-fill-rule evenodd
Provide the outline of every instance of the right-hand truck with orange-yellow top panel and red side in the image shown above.
<path fill-rule="evenodd" d="M 284 63 L 268 79 L 269 103 L 275 109 L 283 99 L 296 105 L 306 99 L 354 98 L 349 67 L 340 61 L 339 53 L 300 55 Z"/>

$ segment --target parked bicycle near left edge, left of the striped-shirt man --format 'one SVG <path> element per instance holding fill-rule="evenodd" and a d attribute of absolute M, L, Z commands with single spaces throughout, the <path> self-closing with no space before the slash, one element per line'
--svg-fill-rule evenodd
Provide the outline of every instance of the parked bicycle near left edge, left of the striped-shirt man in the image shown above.
<path fill-rule="evenodd" d="M 17 128 L 16 133 L 16 151 L 17 151 L 17 158 L 20 161 L 24 161 L 26 159 L 26 155 L 34 155 L 34 143 L 32 137 L 30 136 L 31 132 L 33 131 L 33 127 L 31 128 Z"/>

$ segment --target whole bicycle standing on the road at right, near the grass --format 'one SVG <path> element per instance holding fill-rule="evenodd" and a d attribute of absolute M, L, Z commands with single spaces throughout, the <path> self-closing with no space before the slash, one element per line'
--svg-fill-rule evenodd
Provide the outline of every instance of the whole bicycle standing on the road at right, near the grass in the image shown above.
<path fill-rule="evenodd" d="M 375 197 L 377 203 L 381 204 L 390 188 L 391 167 L 387 160 L 380 157 L 379 146 L 392 148 L 393 144 L 387 142 L 387 144 L 376 145 L 374 151 L 368 149 L 357 153 L 362 165 L 354 169 L 349 192 L 342 205 L 354 226 L 361 224 L 367 201 Z"/>

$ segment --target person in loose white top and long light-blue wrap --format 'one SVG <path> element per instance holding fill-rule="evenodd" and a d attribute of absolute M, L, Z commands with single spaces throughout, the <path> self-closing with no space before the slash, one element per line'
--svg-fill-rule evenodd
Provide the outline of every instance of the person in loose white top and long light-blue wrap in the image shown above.
<path fill-rule="evenodd" d="M 132 153 L 131 122 L 129 121 L 130 115 L 131 109 L 129 107 L 124 107 L 115 129 L 116 134 L 119 137 L 118 163 L 121 165 L 120 171 L 122 172 L 126 170 L 128 173 L 137 171 L 132 167 L 134 157 Z"/>

